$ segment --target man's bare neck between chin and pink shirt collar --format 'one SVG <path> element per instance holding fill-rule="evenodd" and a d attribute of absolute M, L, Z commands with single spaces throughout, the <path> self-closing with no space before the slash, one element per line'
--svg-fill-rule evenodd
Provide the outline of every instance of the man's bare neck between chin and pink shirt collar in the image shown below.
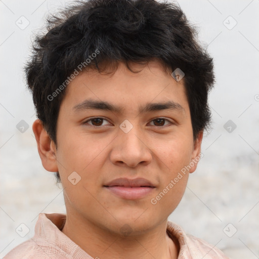
<path fill-rule="evenodd" d="M 84 226 L 84 227 L 82 227 Z M 176 259 L 178 248 L 166 234 L 167 220 L 156 228 L 135 236 L 121 236 L 101 229 L 85 218 L 67 214 L 62 232 L 93 258 Z"/>

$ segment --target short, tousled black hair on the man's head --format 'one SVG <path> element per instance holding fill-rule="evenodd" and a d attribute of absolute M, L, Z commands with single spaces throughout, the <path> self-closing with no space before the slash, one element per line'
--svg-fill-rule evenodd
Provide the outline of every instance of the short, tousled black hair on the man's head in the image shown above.
<path fill-rule="evenodd" d="M 47 33 L 34 39 L 25 73 L 36 116 L 56 147 L 59 108 L 71 76 L 89 68 L 114 72 L 119 62 L 130 70 L 132 62 L 146 64 L 154 60 L 169 73 L 180 68 L 185 74 L 194 140 L 209 126 L 212 58 L 198 43 L 194 26 L 177 4 L 153 0 L 79 1 L 59 15 L 51 15 L 46 27 Z"/>

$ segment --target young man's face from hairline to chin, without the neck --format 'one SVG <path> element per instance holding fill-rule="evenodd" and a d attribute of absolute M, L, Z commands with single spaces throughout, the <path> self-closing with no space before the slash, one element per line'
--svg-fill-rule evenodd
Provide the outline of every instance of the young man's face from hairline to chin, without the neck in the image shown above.
<path fill-rule="evenodd" d="M 67 213 L 114 233 L 129 228 L 134 234 L 166 220 L 186 188 L 188 171 L 182 177 L 179 172 L 200 148 L 193 141 L 183 80 L 177 82 L 159 63 L 141 69 L 133 73 L 120 63 L 113 75 L 79 74 L 67 87 L 57 121 Z M 97 109 L 86 100 L 118 109 Z M 167 109 L 151 106 L 167 102 L 173 104 Z"/>

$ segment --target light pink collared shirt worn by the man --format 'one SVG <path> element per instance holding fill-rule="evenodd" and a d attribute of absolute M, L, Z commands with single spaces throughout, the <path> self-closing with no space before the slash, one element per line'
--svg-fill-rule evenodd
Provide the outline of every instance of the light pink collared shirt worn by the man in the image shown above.
<path fill-rule="evenodd" d="M 48 214 L 48 218 L 51 219 L 51 214 Z M 4 259 L 93 259 L 48 218 L 45 213 L 40 213 L 34 237 L 15 247 Z M 64 226 L 65 220 L 66 215 L 59 214 L 57 225 Z M 213 245 L 185 234 L 175 223 L 168 222 L 167 233 L 171 238 L 177 238 L 180 244 L 179 259 L 229 259 Z"/>

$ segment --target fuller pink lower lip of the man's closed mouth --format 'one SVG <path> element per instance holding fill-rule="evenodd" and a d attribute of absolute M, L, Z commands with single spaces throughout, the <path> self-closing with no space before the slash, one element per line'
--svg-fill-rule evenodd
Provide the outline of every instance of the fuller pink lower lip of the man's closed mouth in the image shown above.
<path fill-rule="evenodd" d="M 111 186 L 105 187 L 109 189 L 113 194 L 124 199 L 134 200 L 140 199 L 150 194 L 154 187 L 123 187 L 123 186 Z"/>

